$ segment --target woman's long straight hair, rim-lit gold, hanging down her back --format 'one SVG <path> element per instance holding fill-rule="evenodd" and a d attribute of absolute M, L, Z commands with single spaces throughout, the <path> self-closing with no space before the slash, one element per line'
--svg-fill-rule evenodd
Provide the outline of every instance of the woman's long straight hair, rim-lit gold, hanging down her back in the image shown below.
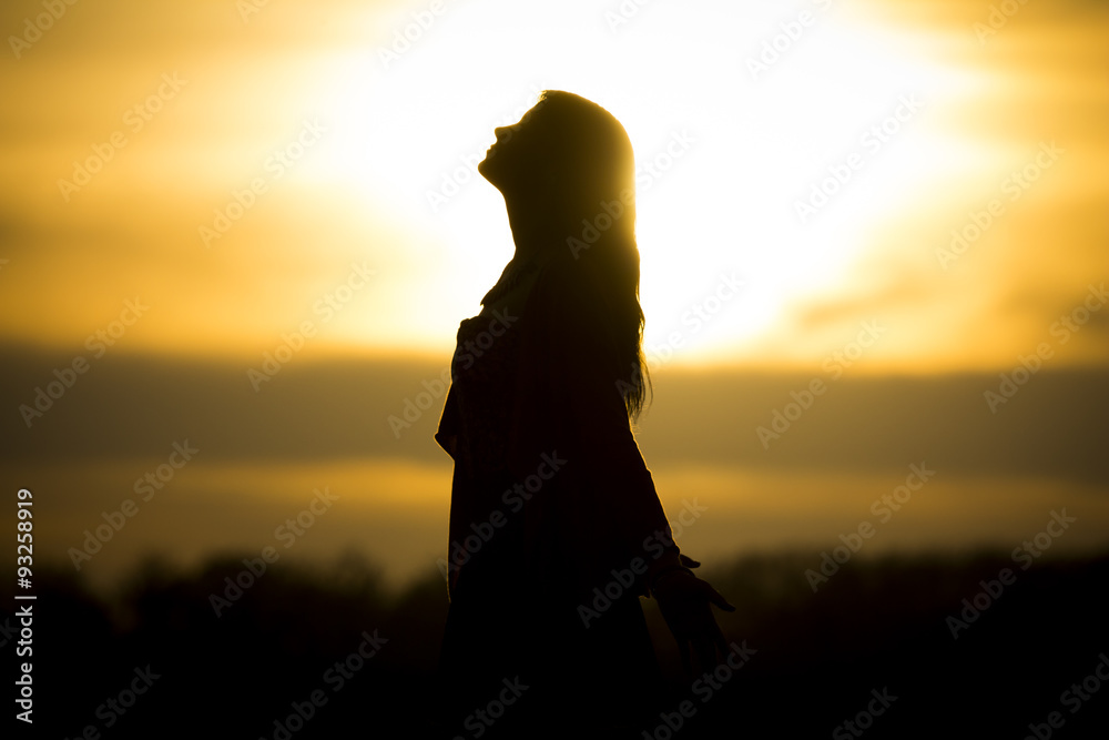
<path fill-rule="evenodd" d="M 650 391 L 643 356 L 635 242 L 635 159 L 623 125 L 597 103 L 546 90 L 533 109 L 547 148 L 547 197 L 566 214 L 564 249 L 582 271 L 581 298 L 612 342 L 613 378 L 628 416 L 637 419 Z"/>

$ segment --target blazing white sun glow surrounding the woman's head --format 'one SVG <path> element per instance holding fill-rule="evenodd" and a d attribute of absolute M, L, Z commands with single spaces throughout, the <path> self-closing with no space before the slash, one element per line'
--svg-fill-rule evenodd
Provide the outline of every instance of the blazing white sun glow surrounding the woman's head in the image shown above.
<path fill-rule="evenodd" d="M 645 343 L 683 361 L 735 355 L 780 331 L 798 296 L 842 287 L 873 247 L 861 235 L 875 213 L 910 203 L 962 153 L 935 114 L 975 81 L 832 10 L 761 58 L 764 42 L 784 45 L 788 12 L 718 3 L 689 32 L 689 13 L 659 6 L 628 21 L 634 32 L 598 12 L 593 28 L 519 38 L 511 23 L 542 19 L 521 19 L 518 3 L 481 4 L 445 11 L 394 59 L 345 55 L 349 73 L 330 92 L 336 135 L 319 163 L 435 245 L 442 315 L 476 312 L 511 256 L 502 201 L 474 166 L 494 128 L 546 88 L 590 98 L 627 128 Z M 744 288 L 721 300 L 729 280 Z"/>

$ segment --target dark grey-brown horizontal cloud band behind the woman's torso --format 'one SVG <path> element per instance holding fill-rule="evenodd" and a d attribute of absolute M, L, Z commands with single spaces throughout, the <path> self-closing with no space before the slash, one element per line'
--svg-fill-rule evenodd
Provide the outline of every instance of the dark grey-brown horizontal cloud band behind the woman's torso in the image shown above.
<path fill-rule="evenodd" d="M 187 437 L 207 460 L 446 459 L 431 438 L 446 357 L 293 359 L 255 392 L 241 364 L 109 354 L 27 428 L 18 407 L 70 359 L 4 349 L 0 457 L 156 457 Z M 984 397 L 998 392 L 995 374 L 818 377 L 825 393 L 767 446 L 757 428 L 780 428 L 775 414 L 792 416 L 792 394 L 813 376 L 660 372 L 639 435 L 648 463 L 875 472 L 927 460 L 968 475 L 1109 481 L 1098 445 L 1109 434 L 1105 371 L 1045 363 L 996 413 Z"/>

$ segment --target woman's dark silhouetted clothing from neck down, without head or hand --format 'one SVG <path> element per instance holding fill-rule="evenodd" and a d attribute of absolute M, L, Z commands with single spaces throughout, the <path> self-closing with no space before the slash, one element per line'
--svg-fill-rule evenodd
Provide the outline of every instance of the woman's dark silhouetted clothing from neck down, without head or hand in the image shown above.
<path fill-rule="evenodd" d="M 455 460 L 444 701 L 470 722 L 462 737 L 589 737 L 586 718 L 618 737 L 658 688 L 643 574 L 678 548 L 621 397 L 632 368 L 593 317 L 603 303 L 569 260 L 530 270 L 518 315 L 461 322 L 435 435 Z M 474 714 L 502 699 L 488 727 Z"/>

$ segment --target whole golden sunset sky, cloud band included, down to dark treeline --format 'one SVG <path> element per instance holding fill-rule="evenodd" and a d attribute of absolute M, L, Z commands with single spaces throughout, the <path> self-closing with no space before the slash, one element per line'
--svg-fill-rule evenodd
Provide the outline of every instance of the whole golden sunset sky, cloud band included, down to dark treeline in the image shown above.
<path fill-rule="evenodd" d="M 1103 547 L 1109 7 L 999 4 L 6 2 L 4 486 L 70 567 L 187 443 L 83 574 L 256 551 L 317 487 L 342 514 L 296 557 L 434 571 L 441 378 L 512 253 L 474 166 L 561 89 L 635 148 L 637 438 L 669 513 L 711 510 L 683 548 L 832 547 L 910 465 L 936 480 L 872 553 L 1008 549 L 1066 507 L 1060 547 Z"/>

